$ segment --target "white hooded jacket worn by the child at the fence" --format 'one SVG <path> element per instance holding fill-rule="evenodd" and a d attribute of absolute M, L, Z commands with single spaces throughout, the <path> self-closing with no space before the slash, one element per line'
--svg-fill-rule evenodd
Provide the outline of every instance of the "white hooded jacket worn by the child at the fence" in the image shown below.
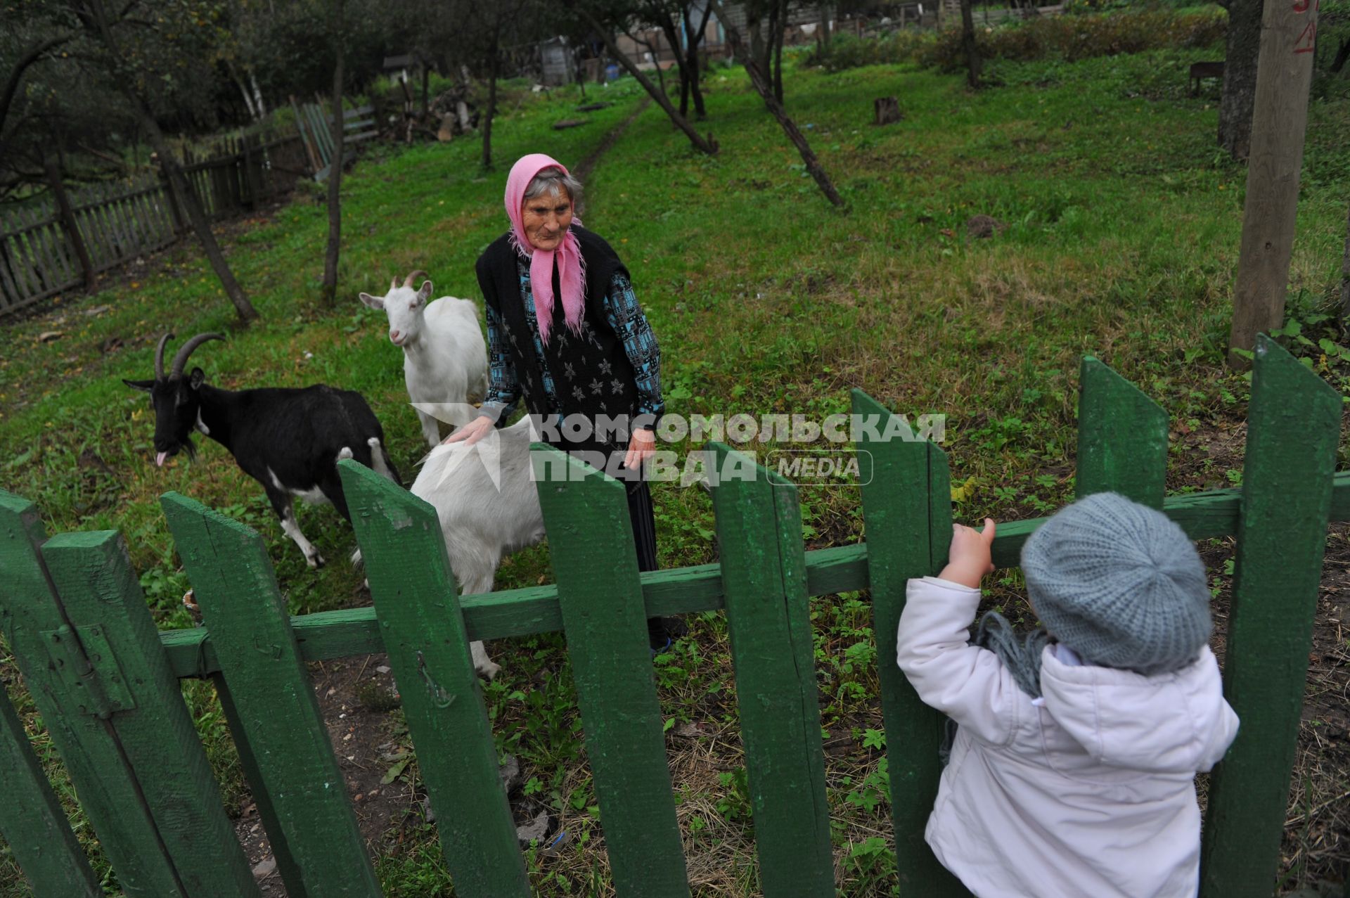
<path fill-rule="evenodd" d="M 1033 699 L 968 643 L 980 590 L 925 577 L 907 596 L 896 660 L 959 724 L 925 830 L 942 866 L 979 898 L 1195 895 L 1195 774 L 1238 732 L 1210 648 L 1143 677 L 1052 644 Z"/>

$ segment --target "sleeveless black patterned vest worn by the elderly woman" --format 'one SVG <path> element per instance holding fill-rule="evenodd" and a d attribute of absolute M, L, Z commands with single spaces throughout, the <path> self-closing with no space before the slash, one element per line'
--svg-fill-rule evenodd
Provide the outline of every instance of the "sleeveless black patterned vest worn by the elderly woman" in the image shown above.
<path fill-rule="evenodd" d="M 497 313 L 502 325 L 512 365 L 520 381 L 525 409 L 531 415 L 549 420 L 552 415 L 583 415 L 591 421 L 605 415 L 612 419 L 633 419 L 637 415 L 637 378 L 628 361 L 624 344 L 609 325 L 605 315 L 605 296 L 614 274 L 628 275 L 618 254 L 597 234 L 579 224 L 571 232 L 580 244 L 586 265 L 586 305 L 582 331 L 574 334 L 563 315 L 562 289 L 558 270 L 554 270 L 554 319 L 544 361 L 554 378 L 554 393 L 560 408 L 551 408 L 544 392 L 543 370 L 535 354 L 535 336 L 525 319 L 525 304 L 520 293 L 520 255 L 510 244 L 510 232 L 494 240 L 478 257 L 475 266 L 478 286 L 483 300 Z M 639 421 L 639 425 L 651 425 Z M 603 444 L 585 440 L 567 448 L 624 450 L 628 446 L 626 427 L 612 435 Z"/>

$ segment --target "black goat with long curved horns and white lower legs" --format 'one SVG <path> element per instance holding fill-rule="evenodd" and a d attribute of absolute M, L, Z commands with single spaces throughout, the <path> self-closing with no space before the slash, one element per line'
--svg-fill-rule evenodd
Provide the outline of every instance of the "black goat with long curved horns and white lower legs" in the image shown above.
<path fill-rule="evenodd" d="M 155 409 L 155 465 L 186 450 L 196 454 L 192 431 L 198 429 L 235 456 L 262 483 L 281 529 L 296 540 L 310 567 L 324 563 L 296 524 L 293 500 L 332 502 L 348 521 L 338 460 L 354 458 L 400 483 L 385 451 L 385 432 L 359 393 L 316 384 L 302 389 L 223 390 L 205 382 L 200 367 L 184 377 L 192 351 L 219 334 L 198 334 L 178 348 L 165 374 L 165 344 L 159 338 L 153 381 L 123 381 L 150 393 Z M 401 483 L 400 483 L 401 485 Z"/>

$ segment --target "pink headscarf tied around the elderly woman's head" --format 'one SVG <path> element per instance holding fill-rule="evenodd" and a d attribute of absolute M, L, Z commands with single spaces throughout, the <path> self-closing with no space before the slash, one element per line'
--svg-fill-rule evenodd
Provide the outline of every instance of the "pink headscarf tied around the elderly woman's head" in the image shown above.
<path fill-rule="evenodd" d="M 579 334 L 582 329 L 586 292 L 586 270 L 576 235 L 568 231 L 556 250 L 539 250 L 531 244 L 529 238 L 525 236 L 525 228 L 521 226 L 525 188 L 529 186 L 536 174 L 549 167 L 562 169 L 563 174 L 568 174 L 567 167 L 558 159 L 543 153 L 531 153 L 516 161 L 516 165 L 510 167 L 510 177 L 506 178 L 506 215 L 512 224 L 510 243 L 517 253 L 529 259 L 529 289 L 535 294 L 535 317 L 539 321 L 539 338 L 544 343 L 548 343 L 548 331 L 554 323 L 554 262 L 558 262 L 558 282 L 563 288 L 563 317 L 567 321 L 567 329 L 572 334 Z M 582 223 L 575 215 L 572 221 Z"/>

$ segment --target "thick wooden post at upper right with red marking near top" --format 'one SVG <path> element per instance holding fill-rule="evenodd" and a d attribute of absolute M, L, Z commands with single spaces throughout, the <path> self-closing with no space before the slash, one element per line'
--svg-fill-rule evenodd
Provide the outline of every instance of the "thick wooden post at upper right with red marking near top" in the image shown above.
<path fill-rule="evenodd" d="M 1228 334 L 1228 366 L 1235 369 L 1247 367 L 1239 350 L 1251 350 L 1258 332 L 1284 324 L 1319 3 L 1270 0 L 1261 22 L 1247 200 Z"/>

